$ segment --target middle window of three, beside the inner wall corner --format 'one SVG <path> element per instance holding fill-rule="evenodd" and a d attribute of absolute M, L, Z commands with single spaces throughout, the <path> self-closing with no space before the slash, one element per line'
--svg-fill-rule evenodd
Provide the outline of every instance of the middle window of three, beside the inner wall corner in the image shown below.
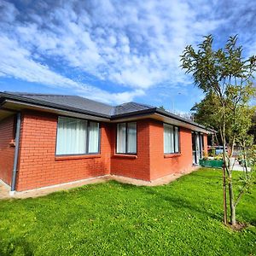
<path fill-rule="evenodd" d="M 120 123 L 117 125 L 118 154 L 137 154 L 137 123 Z"/>

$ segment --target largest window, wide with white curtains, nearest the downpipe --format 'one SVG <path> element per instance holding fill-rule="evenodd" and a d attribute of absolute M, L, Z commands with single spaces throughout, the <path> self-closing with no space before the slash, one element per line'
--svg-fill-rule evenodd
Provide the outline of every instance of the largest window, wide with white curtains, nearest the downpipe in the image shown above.
<path fill-rule="evenodd" d="M 84 119 L 59 117 L 56 154 L 99 153 L 100 125 Z"/>

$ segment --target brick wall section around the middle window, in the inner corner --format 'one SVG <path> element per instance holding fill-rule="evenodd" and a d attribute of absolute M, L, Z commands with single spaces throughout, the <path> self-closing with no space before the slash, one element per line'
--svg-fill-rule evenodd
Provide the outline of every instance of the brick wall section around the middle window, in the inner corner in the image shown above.
<path fill-rule="evenodd" d="M 149 120 L 137 121 L 137 158 L 115 154 L 116 125 L 112 125 L 111 173 L 115 175 L 150 180 L 149 172 Z"/>

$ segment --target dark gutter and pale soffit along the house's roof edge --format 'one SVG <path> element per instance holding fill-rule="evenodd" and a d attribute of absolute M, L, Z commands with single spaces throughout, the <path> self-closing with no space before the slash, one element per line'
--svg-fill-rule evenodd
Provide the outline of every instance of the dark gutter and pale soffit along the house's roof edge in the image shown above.
<path fill-rule="evenodd" d="M 25 109 L 113 123 L 138 119 L 156 119 L 167 124 L 181 126 L 192 131 L 200 131 L 207 134 L 216 132 L 214 130 L 207 129 L 207 127 L 199 125 L 191 120 L 183 119 L 182 117 L 179 117 L 173 113 L 161 110 L 160 108 L 148 108 L 136 112 L 121 113 L 119 115 L 108 116 L 101 113 L 95 113 L 78 108 L 71 108 L 55 103 L 28 99 L 22 96 L 13 96 L 7 93 L 0 94 L 0 119 Z"/>

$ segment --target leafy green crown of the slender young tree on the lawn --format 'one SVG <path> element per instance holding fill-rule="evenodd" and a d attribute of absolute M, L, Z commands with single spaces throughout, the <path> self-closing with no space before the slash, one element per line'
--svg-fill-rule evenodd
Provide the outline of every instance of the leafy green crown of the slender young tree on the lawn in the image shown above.
<path fill-rule="evenodd" d="M 205 125 L 220 132 L 225 122 L 224 139 L 232 147 L 236 135 L 247 133 L 252 125 L 255 109 L 248 106 L 248 101 L 255 96 L 252 79 L 256 57 L 244 60 L 236 37 L 230 37 L 224 49 L 213 50 L 212 41 L 212 36 L 205 37 L 198 51 L 187 46 L 181 56 L 182 67 L 192 73 L 195 85 L 206 93 L 206 98 L 192 108 L 200 110 L 197 119 L 204 119 Z"/>

